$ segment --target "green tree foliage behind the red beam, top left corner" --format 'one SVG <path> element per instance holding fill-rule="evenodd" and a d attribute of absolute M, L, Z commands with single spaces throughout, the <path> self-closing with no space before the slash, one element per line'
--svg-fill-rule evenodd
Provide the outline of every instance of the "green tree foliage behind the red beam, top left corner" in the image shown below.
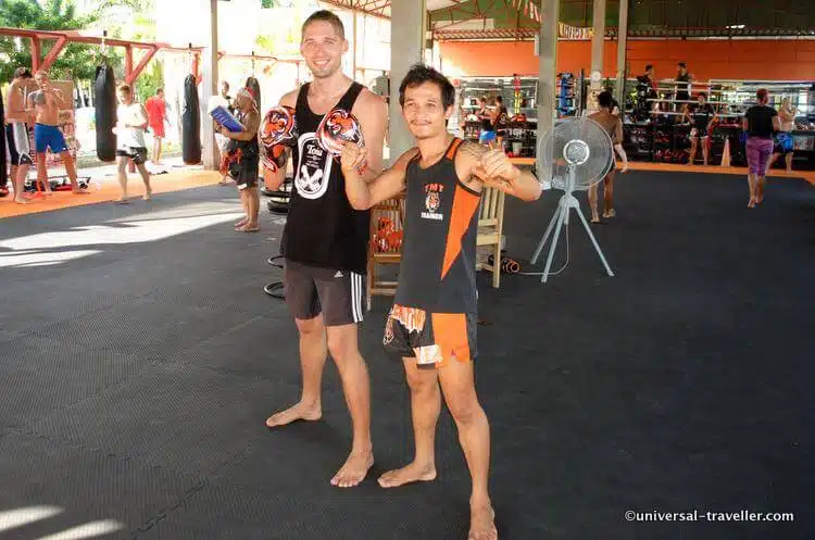
<path fill-rule="evenodd" d="M 0 1 L 0 26 L 32 28 L 39 30 L 74 30 L 92 27 L 106 9 L 115 4 L 128 4 L 131 0 L 114 2 L 108 0 L 100 9 L 78 14 L 73 0 L 2 0 Z M 42 58 L 48 54 L 55 41 L 41 41 Z M 53 78 L 78 80 L 92 79 L 100 60 L 99 47 L 70 43 L 50 67 Z M 122 65 L 120 52 L 109 49 L 109 64 Z M 28 39 L 0 37 L 0 80 L 10 80 L 18 66 L 32 66 L 32 45 Z"/>

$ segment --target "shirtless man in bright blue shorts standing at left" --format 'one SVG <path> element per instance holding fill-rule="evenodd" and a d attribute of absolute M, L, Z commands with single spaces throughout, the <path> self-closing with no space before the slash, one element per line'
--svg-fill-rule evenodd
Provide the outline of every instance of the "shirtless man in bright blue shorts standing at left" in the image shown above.
<path fill-rule="evenodd" d="M 28 95 L 28 110 L 34 110 L 36 124 L 34 126 L 34 146 L 37 151 L 37 181 L 45 186 L 46 194 L 51 194 L 51 185 L 48 181 L 46 169 L 46 151 L 62 154 L 62 163 L 65 165 L 71 187 L 75 194 L 87 193 L 88 190 L 79 187 L 76 181 L 76 168 L 74 159 L 71 158 L 65 138 L 60 131 L 60 109 L 66 106 L 62 91 L 51 86 L 51 80 L 46 72 L 39 71 L 34 75 L 39 90 Z"/>

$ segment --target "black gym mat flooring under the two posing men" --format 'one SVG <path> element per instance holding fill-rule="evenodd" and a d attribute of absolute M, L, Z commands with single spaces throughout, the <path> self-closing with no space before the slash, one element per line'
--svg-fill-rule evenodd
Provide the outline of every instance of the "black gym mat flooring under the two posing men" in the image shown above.
<path fill-rule="evenodd" d="M 576 216 L 568 265 L 547 284 L 503 276 L 493 290 L 479 276 L 500 538 L 815 533 L 815 190 L 770 179 L 755 210 L 747 194 L 732 176 L 622 175 L 618 216 L 592 226 L 615 277 Z M 507 254 L 525 272 L 542 269 L 525 263 L 559 197 L 507 201 Z M 237 234 L 238 211 L 231 190 L 208 187 L 0 222 L 0 539 L 105 519 L 121 529 L 95 538 L 466 538 L 469 477 L 447 412 L 435 482 L 375 481 L 413 452 L 401 366 L 380 344 L 390 299 L 360 332 L 372 476 L 328 485 L 350 442 L 330 362 L 323 422 L 265 429 L 299 395 L 298 342 L 285 304 L 262 292 L 279 278 L 266 264 L 279 217 L 263 211 L 260 234 Z M 78 240 L 54 236 L 72 230 Z M 95 253 L 63 261 L 77 251 Z M 565 258 L 562 239 L 554 269 Z M 3 512 L 39 505 L 62 513 L 3 530 Z M 628 510 L 795 522 L 628 523 Z"/>

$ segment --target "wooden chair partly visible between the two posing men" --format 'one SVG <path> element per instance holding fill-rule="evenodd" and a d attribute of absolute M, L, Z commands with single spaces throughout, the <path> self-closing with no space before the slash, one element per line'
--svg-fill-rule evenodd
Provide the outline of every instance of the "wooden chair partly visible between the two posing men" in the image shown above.
<path fill-rule="evenodd" d="M 401 231 L 404 227 L 404 197 L 399 196 L 393 199 L 383 201 L 371 209 L 371 244 L 368 246 L 367 279 L 366 279 L 366 303 L 367 310 L 371 311 L 371 301 L 374 294 L 392 297 L 397 293 L 398 281 L 381 280 L 377 278 L 377 265 L 391 264 L 399 265 L 402 261 L 400 248 L 377 246 L 375 242 L 376 231 L 379 227 L 379 219 L 390 219 L 393 230 Z"/>

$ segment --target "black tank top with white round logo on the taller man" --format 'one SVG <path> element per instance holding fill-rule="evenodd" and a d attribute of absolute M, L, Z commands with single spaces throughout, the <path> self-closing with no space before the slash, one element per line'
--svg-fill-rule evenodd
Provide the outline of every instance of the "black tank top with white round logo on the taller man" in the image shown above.
<path fill-rule="evenodd" d="M 339 161 L 317 142 L 323 116 L 309 108 L 309 86 L 300 88 L 294 110 L 300 138 L 293 149 L 294 189 L 281 251 L 296 263 L 364 274 L 371 214 L 351 208 Z M 353 83 L 336 106 L 350 112 L 362 89 Z"/>

